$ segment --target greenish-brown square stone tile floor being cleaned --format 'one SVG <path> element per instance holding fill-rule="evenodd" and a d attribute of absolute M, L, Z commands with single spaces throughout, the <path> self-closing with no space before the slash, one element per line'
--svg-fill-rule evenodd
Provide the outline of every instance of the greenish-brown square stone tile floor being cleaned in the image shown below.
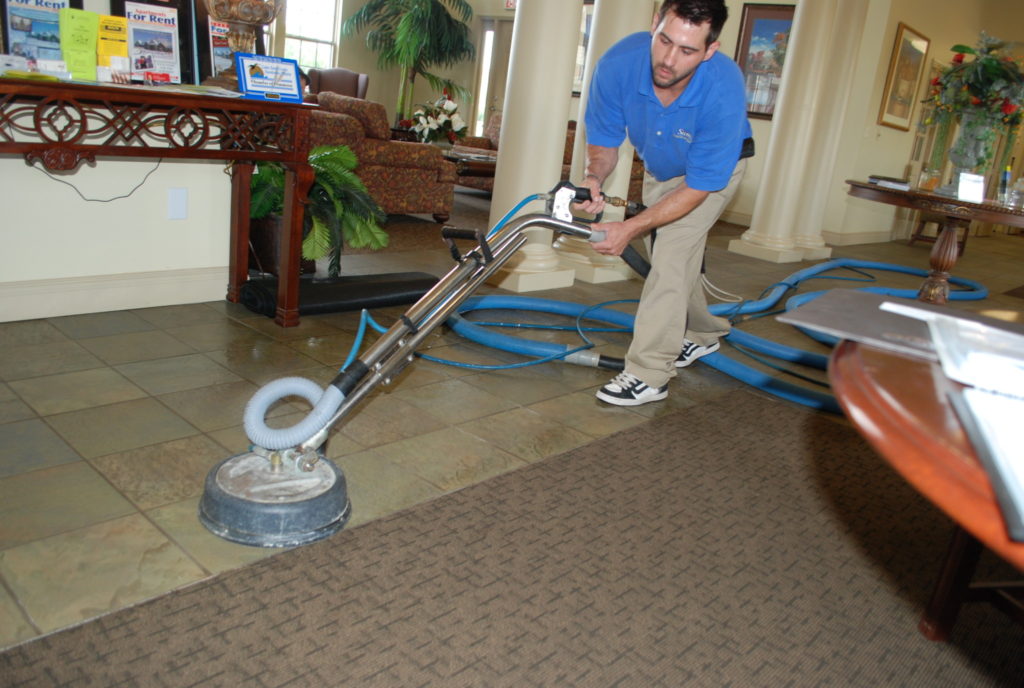
<path fill-rule="evenodd" d="M 722 225 L 712 234 L 708 273 L 719 287 L 756 299 L 810 265 L 728 253 L 725 247 L 739 229 Z M 929 250 L 894 242 L 837 248 L 834 257 L 924 267 Z M 1020 317 L 1024 300 L 1002 293 L 1024 282 L 1022 258 L 1024 238 L 972 239 L 954 273 L 983 283 L 991 296 L 956 307 Z M 450 265 L 443 249 L 388 250 L 345 260 L 347 273 L 442 274 Z M 873 273 L 888 286 L 915 288 L 921 282 L 899 272 Z M 857 286 L 807 285 L 802 291 Z M 639 289 L 637 281 L 578 283 L 531 296 L 601 303 L 636 298 Z M 374 315 L 387 325 L 403 310 Z M 486 313 L 492 319 L 502 315 Z M 327 383 L 356 327 L 357 313 L 336 313 L 306 316 L 300 327 L 283 330 L 227 302 L 0 324 L 0 647 L 272 556 L 276 550 L 233 545 L 200 525 L 203 479 L 216 462 L 247 446 L 242 408 L 259 385 L 285 375 Z M 740 327 L 822 350 L 771 317 Z M 577 341 L 573 334 L 550 331 L 529 336 Z M 624 335 L 591 338 L 598 350 L 623 355 Z M 520 359 L 446 330 L 435 331 L 423 350 L 462 362 Z M 740 384 L 697 364 L 681 372 L 667 401 L 631 410 L 594 399 L 596 387 L 611 375 L 564 363 L 477 371 L 418 360 L 394 384 L 375 390 L 329 442 L 329 456 L 348 480 L 348 527 Z M 275 423 L 286 424 L 304 412 L 284 405 L 273 413 Z"/>

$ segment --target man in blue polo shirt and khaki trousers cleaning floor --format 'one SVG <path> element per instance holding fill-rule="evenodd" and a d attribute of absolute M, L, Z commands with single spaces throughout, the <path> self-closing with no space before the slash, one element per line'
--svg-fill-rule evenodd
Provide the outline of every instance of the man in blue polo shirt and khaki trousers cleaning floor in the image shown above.
<path fill-rule="evenodd" d="M 708 231 L 754 146 L 742 74 L 718 51 L 727 15 L 723 0 L 666 0 L 650 34 L 613 45 L 591 81 L 583 183 L 594 200 L 580 207 L 603 210 L 601 184 L 628 134 L 644 161 L 647 209 L 624 222 L 595 223 L 606 238 L 593 246 L 617 256 L 643 236 L 651 258 L 626 370 L 597 392 L 608 403 L 666 398 L 676 369 L 717 350 L 729 332 L 728 320 L 708 310 L 700 285 Z"/>

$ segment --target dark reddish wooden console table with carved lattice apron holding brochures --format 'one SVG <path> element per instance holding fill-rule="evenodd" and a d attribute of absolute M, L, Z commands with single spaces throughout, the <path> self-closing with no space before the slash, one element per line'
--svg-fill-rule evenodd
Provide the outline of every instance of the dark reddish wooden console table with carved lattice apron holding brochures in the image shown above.
<path fill-rule="evenodd" d="M 299 322 L 299 254 L 308 164 L 309 105 L 215 97 L 173 87 L 99 86 L 0 79 L 0 154 L 50 170 L 97 156 L 233 161 L 227 300 L 249 274 L 249 184 L 253 164 L 285 166 L 285 231 L 279 249 L 274 320 Z"/>

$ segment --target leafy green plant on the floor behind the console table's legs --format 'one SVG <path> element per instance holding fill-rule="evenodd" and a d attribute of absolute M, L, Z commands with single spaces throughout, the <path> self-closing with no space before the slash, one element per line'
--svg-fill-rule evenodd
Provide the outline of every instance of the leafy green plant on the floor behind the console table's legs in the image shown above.
<path fill-rule="evenodd" d="M 309 187 L 302 225 L 302 257 L 330 256 L 328 273 L 341 271 L 341 248 L 387 246 L 381 224 L 387 219 L 353 170 L 358 164 L 347 145 L 318 145 L 309 152 L 313 183 Z M 249 217 L 281 214 L 285 205 L 285 169 L 279 163 L 259 163 L 253 173 Z"/>

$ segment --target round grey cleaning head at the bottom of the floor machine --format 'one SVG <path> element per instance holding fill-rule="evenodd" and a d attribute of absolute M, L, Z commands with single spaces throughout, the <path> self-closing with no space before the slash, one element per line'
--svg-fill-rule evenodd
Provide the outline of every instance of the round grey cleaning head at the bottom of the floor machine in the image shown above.
<path fill-rule="evenodd" d="M 294 547 L 340 530 L 350 514 L 345 476 L 323 456 L 312 471 L 273 466 L 253 451 L 225 459 L 206 476 L 199 520 L 232 543 Z"/>

